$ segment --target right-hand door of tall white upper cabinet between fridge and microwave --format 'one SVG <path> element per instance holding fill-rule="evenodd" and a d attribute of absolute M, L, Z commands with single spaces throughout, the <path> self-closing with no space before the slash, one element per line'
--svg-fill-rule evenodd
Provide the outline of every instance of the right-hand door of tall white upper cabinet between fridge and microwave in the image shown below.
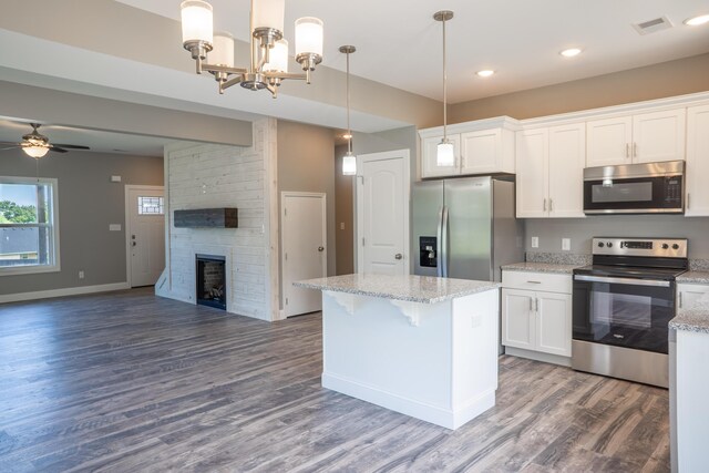
<path fill-rule="evenodd" d="M 585 217 L 586 126 L 549 127 L 549 217 Z"/>

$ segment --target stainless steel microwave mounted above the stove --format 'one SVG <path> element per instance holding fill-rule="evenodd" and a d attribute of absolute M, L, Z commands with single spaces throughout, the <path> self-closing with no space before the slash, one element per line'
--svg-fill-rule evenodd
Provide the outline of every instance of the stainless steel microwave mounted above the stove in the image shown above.
<path fill-rule="evenodd" d="M 682 214 L 685 162 L 584 169 L 586 214 Z"/>

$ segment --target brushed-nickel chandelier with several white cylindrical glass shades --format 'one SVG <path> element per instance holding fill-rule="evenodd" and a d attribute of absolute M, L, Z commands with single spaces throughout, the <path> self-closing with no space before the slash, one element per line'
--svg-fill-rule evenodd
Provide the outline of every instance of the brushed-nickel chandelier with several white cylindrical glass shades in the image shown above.
<path fill-rule="evenodd" d="M 219 93 L 239 84 L 251 91 L 266 89 L 276 97 L 285 79 L 309 84 L 310 72 L 322 62 L 322 21 L 311 17 L 296 20 L 296 61 L 305 74 L 289 73 L 288 41 L 282 33 L 285 9 L 286 0 L 251 0 L 251 58 L 244 69 L 234 66 L 234 38 L 214 33 L 212 4 L 204 0 L 183 1 L 182 41 L 196 62 L 197 74 L 212 73 Z"/>

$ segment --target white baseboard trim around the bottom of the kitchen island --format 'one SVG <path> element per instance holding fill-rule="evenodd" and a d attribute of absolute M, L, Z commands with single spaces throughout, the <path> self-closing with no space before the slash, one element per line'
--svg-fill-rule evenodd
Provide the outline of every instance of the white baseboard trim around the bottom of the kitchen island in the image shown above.
<path fill-rule="evenodd" d="M 452 430 L 495 405 L 494 389 L 451 410 L 404 398 L 332 373 L 323 372 L 321 380 L 323 388 Z"/>

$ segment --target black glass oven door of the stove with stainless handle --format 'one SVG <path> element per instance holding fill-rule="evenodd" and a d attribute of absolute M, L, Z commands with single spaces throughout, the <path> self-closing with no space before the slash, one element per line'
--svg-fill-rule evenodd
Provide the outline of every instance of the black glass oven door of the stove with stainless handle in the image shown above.
<path fill-rule="evenodd" d="M 667 353 L 675 282 L 574 275 L 575 340 Z"/>

